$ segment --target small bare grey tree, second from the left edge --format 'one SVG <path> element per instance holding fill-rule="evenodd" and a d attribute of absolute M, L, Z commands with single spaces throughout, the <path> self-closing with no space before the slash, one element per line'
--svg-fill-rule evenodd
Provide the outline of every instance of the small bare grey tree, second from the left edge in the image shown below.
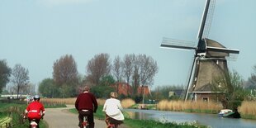
<path fill-rule="evenodd" d="M 22 67 L 21 64 L 16 64 L 12 69 L 12 83 L 17 90 L 17 98 L 19 98 L 21 89 L 26 88 L 26 85 L 29 83 L 28 74 L 28 69 Z"/>

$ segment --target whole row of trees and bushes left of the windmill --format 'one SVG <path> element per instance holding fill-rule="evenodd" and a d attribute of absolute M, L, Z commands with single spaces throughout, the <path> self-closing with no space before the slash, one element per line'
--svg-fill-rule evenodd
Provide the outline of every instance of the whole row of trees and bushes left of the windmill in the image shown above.
<path fill-rule="evenodd" d="M 28 69 L 21 64 L 16 64 L 11 69 L 5 59 L 0 62 L 1 92 L 8 82 L 12 82 L 15 93 L 28 92 L 26 90 L 31 85 Z M 154 76 L 159 71 L 157 62 L 147 55 L 130 54 L 125 55 L 123 59 L 117 55 L 111 62 L 110 56 L 104 53 L 94 55 L 85 69 L 86 75 L 79 74 L 73 56 L 63 55 L 53 64 L 52 78 L 43 79 L 38 91 L 44 97 L 76 97 L 87 84 L 98 97 L 107 97 L 107 92 L 113 91 L 109 86 L 116 82 L 128 83 L 132 88 L 138 88 L 140 85 L 152 86 Z"/>

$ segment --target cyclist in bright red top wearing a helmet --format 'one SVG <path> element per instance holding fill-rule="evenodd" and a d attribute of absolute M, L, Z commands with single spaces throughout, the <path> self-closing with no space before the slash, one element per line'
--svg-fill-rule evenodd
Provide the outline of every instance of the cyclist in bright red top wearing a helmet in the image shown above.
<path fill-rule="evenodd" d="M 31 122 L 36 121 L 37 126 L 39 128 L 40 119 L 45 116 L 45 107 L 42 103 L 40 103 L 40 97 L 38 95 L 34 96 L 34 102 L 31 102 L 25 110 L 24 118 L 28 118 L 28 121 Z"/>

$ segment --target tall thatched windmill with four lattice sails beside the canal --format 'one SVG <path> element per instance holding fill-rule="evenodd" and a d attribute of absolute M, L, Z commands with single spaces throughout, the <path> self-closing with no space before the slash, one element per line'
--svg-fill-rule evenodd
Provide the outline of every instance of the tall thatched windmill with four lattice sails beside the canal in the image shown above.
<path fill-rule="evenodd" d="M 211 27 L 214 6 L 215 0 L 206 0 L 205 9 L 201 18 L 201 26 L 197 36 L 197 46 L 189 45 L 187 41 L 173 40 L 170 38 L 164 38 L 161 44 L 161 47 L 165 48 L 195 50 L 192 69 L 189 74 L 184 96 L 185 101 L 187 100 L 188 93 L 211 93 L 210 86 L 212 86 L 212 81 L 215 78 L 224 77 L 228 73 L 225 57 L 230 56 L 230 54 L 239 54 L 239 50 L 228 49 L 216 40 L 207 38 Z"/>

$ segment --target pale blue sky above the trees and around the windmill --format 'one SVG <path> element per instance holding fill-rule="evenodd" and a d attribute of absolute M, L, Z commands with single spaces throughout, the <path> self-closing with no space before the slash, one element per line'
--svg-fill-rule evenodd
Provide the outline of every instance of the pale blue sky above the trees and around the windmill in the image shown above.
<path fill-rule="evenodd" d="M 197 32 L 206 0 L 1 0 L 0 59 L 21 64 L 30 82 L 52 78 L 54 62 L 73 55 L 78 73 L 107 53 L 151 56 L 159 66 L 153 87 L 187 85 L 193 50 L 160 48 L 163 37 L 189 40 Z M 240 51 L 228 60 L 244 80 L 256 65 L 256 1 L 216 0 L 209 36 Z"/>

